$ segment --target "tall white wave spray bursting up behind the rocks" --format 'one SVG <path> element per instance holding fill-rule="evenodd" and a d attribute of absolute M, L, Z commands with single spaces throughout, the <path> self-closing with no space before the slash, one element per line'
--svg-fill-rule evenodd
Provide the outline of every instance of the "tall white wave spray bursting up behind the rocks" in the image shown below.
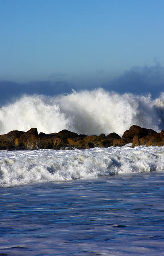
<path fill-rule="evenodd" d="M 23 96 L 0 108 L 0 134 L 11 130 L 52 133 L 68 129 L 78 134 L 123 132 L 133 124 L 160 131 L 164 124 L 164 93 L 150 95 L 109 93 L 103 89 L 68 95 Z"/>

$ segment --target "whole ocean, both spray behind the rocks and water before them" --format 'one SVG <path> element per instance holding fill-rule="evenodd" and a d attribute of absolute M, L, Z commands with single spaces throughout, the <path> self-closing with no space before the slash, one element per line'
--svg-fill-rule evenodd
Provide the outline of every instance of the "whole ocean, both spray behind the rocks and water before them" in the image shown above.
<path fill-rule="evenodd" d="M 164 93 L 24 95 L 11 130 L 105 135 L 164 128 Z M 0 256 L 164 255 L 164 147 L 0 151 Z"/>

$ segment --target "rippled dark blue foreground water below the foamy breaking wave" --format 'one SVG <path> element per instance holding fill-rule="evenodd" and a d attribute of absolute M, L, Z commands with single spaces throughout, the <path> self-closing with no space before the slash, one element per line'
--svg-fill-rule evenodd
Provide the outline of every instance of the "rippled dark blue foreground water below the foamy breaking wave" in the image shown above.
<path fill-rule="evenodd" d="M 164 173 L 1 187 L 2 255 L 164 255 Z"/>

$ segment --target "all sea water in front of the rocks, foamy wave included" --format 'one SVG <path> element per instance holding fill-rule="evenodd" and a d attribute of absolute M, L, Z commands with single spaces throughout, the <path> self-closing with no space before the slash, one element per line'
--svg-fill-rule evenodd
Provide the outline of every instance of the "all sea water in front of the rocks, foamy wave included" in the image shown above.
<path fill-rule="evenodd" d="M 164 255 L 164 148 L 0 151 L 0 255 Z"/>

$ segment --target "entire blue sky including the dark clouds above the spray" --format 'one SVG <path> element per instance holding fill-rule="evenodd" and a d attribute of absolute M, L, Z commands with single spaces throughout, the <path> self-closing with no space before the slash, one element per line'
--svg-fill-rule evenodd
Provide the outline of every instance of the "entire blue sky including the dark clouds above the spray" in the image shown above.
<path fill-rule="evenodd" d="M 72 87 L 160 93 L 163 11 L 164 0 L 0 0 L 0 100 Z"/>

